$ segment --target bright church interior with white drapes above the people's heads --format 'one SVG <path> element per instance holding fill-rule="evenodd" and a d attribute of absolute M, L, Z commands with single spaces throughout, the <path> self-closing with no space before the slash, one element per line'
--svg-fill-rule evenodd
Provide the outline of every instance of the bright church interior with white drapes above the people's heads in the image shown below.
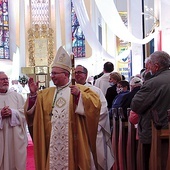
<path fill-rule="evenodd" d="M 168 0 L 1 0 L 0 68 L 11 85 L 33 77 L 52 86 L 50 64 L 63 46 L 89 78 L 111 61 L 128 80 L 150 53 L 169 52 L 169 7 Z"/>

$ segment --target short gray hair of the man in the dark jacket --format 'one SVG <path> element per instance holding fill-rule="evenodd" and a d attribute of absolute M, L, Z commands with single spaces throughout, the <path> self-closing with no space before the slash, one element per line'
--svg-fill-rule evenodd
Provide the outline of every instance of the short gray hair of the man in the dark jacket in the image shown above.
<path fill-rule="evenodd" d="M 153 64 L 158 64 L 160 68 L 169 68 L 170 56 L 165 51 L 155 51 L 149 56 L 149 60 Z"/>

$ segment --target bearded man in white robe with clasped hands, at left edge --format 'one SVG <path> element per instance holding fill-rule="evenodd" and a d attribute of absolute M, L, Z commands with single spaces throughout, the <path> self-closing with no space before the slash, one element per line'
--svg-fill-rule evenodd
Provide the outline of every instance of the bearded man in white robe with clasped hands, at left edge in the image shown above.
<path fill-rule="evenodd" d="M 9 78 L 0 71 L 0 170 L 25 170 L 27 145 L 24 98 L 9 90 Z"/>

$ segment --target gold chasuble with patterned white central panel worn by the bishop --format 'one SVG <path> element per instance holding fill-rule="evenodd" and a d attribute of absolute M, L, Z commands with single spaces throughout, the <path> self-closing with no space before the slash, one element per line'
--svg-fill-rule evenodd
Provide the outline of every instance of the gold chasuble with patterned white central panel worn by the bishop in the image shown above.
<path fill-rule="evenodd" d="M 99 96 L 88 87 L 80 88 L 84 114 L 75 113 L 69 86 L 38 92 L 33 122 L 35 164 L 37 170 L 75 170 L 75 151 L 78 169 L 91 169 L 91 153 L 96 156 L 96 136 L 101 103 Z M 54 97 L 56 94 L 56 97 Z M 55 99 L 54 99 L 55 98 Z M 54 102 L 54 108 L 52 105 Z M 77 147 L 74 148 L 76 116 Z"/>

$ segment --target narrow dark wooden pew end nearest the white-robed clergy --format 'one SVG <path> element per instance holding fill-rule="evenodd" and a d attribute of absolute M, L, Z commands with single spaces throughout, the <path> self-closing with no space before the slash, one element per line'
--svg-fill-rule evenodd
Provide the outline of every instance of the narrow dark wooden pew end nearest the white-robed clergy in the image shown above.
<path fill-rule="evenodd" d="M 118 116 L 117 108 L 112 109 L 112 115 L 113 115 L 112 147 L 113 147 L 113 153 L 115 158 L 113 170 L 119 170 L 119 160 L 118 160 L 119 116 Z"/>

